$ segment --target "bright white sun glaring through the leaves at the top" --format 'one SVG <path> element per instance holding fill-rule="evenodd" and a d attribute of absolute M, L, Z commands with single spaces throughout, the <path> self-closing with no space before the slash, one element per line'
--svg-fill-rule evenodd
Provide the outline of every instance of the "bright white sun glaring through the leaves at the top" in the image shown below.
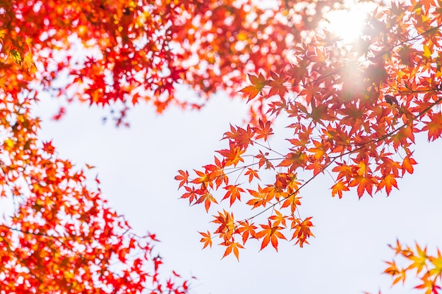
<path fill-rule="evenodd" d="M 345 1 L 341 8 L 325 14 L 327 23 L 324 28 L 344 42 L 356 41 L 362 34 L 367 14 L 373 11 L 375 6 L 374 2 L 369 1 Z"/>

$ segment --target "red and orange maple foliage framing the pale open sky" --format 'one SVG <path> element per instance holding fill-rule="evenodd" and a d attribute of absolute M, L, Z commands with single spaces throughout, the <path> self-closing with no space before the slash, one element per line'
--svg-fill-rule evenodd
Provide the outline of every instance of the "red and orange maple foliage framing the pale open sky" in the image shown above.
<path fill-rule="evenodd" d="M 352 4 L 365 5 L 366 3 Z M 16 200 L 0 223 L 0 286 L 6 292 L 186 293 L 178 274 L 163 284 L 155 235 L 135 235 L 107 207 L 99 180 L 60 159 L 38 138 L 31 108 L 42 93 L 68 102 L 123 105 L 141 101 L 161 113 L 171 105 L 200 109 L 216 91 L 249 105 L 244 125 L 231 125 L 213 162 L 176 176 L 182 197 L 203 204 L 225 255 L 256 239 L 277 250 L 313 236 L 301 188 L 327 171 L 332 196 L 359 197 L 398 188 L 413 173 L 414 135 L 442 133 L 442 2 L 376 3 L 352 39 L 333 31 L 331 11 L 348 1 L 0 1 L 1 197 Z M 179 83 L 201 99 L 175 95 Z M 55 119 L 64 114 L 60 109 Z M 270 147 L 273 124 L 289 119 L 285 151 Z M 263 175 L 266 175 L 265 178 Z M 273 180 L 268 181 L 268 175 Z M 306 180 L 299 180 L 306 178 Z M 262 179 L 261 179 L 262 178 Z M 236 219 L 244 205 L 250 216 Z M 256 209 L 256 210 L 253 210 Z M 431 256 L 399 241 L 410 262 L 388 262 L 393 283 L 417 275 L 425 293 L 438 293 L 441 253 Z M 138 257 L 132 258 L 133 252 Z M 130 257 L 130 258 L 129 258 Z M 121 267 L 114 269 L 112 262 Z"/>

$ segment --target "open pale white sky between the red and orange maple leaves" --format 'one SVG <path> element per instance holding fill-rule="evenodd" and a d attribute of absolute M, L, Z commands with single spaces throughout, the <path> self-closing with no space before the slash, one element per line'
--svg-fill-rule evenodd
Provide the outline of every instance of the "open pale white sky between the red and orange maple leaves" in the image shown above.
<path fill-rule="evenodd" d="M 426 137 L 417 137 L 419 164 L 390 197 L 358 200 L 355 192 L 347 192 L 339 200 L 330 195 L 330 176 L 316 178 L 301 192 L 301 213 L 313 216 L 315 224 L 311 245 L 282 242 L 279 252 L 271 246 L 258 252 L 259 244 L 249 241 L 237 262 L 233 255 L 220 259 L 222 247 L 201 250 L 197 231 L 213 228 L 208 221 L 215 210 L 206 214 L 203 206 L 178 200 L 181 191 L 173 178 L 179 169 L 209 164 L 214 151 L 227 146 L 220 139 L 229 123 L 241 124 L 242 102 L 217 95 L 200 112 L 169 109 L 161 116 L 141 105 L 129 112 L 131 128 L 103 125 L 107 111 L 87 105 L 71 105 L 62 121 L 50 121 L 58 106 L 47 99 L 36 108 L 43 120 L 41 137 L 53 139 L 60 157 L 97 166 L 91 176 L 98 173 L 109 204 L 138 233 L 150 231 L 162 241 L 157 250 L 163 268 L 198 277 L 192 293 L 350 294 L 377 293 L 379 288 L 383 293 L 423 293 L 412 290 L 413 282 L 390 289 L 390 277 L 381 273 L 383 261 L 393 257 L 387 244 L 396 238 L 409 245 L 414 240 L 428 244 L 430 252 L 442 245 L 440 140 L 427 143 Z"/>

